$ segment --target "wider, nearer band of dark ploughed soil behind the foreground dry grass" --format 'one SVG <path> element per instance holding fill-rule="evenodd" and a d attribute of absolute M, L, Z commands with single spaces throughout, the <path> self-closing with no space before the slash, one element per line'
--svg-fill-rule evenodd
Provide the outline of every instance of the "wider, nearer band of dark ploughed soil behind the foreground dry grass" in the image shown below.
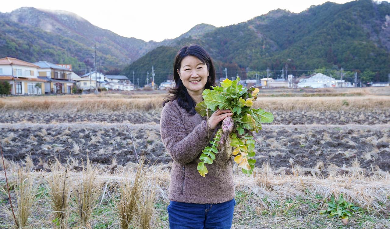
<path fill-rule="evenodd" d="M 85 161 L 89 156 L 103 165 L 111 165 L 114 158 L 119 165 L 137 162 L 124 124 L 8 123 L 0 128 L 5 157 L 23 161 L 31 155 L 36 170 L 45 170 L 45 163 L 55 158 L 65 163 L 68 158 Z M 148 163 L 171 161 L 158 124 L 130 124 L 129 128 L 137 154 L 144 154 Z M 390 125 L 264 125 L 255 137 L 257 166 L 268 161 L 275 168 L 314 168 L 322 161 L 325 166 L 342 167 L 356 159 L 367 170 L 378 166 L 390 171 Z"/>

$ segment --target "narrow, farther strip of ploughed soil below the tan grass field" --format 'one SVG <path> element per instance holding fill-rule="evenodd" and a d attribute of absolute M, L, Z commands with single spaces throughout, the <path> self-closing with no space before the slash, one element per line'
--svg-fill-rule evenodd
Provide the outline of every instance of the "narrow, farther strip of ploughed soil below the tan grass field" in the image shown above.
<path fill-rule="evenodd" d="M 273 111 L 273 125 L 304 124 L 390 124 L 390 111 L 374 109 L 372 111 Z M 47 113 L 31 111 L 9 111 L 0 113 L 0 123 L 73 123 L 73 122 L 107 122 L 107 123 L 160 123 L 161 109 L 151 111 L 131 111 L 128 113 Z"/>

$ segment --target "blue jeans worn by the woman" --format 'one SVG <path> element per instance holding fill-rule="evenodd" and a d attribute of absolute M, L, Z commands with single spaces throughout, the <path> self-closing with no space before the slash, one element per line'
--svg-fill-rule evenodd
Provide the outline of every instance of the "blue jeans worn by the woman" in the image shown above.
<path fill-rule="evenodd" d="M 220 204 L 190 204 L 170 201 L 170 229 L 230 229 L 236 200 Z"/>

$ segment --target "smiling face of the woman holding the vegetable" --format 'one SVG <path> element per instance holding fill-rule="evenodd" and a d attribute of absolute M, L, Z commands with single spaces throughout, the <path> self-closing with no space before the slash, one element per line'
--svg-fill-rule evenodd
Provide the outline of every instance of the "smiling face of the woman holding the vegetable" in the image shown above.
<path fill-rule="evenodd" d="M 188 55 L 181 61 L 179 73 L 183 85 L 189 93 L 202 93 L 209 76 L 207 65 L 202 63 L 197 57 Z"/>

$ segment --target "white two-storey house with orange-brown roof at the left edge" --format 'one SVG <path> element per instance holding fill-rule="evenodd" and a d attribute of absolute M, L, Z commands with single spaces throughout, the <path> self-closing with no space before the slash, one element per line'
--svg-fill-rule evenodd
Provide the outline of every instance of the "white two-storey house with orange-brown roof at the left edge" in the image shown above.
<path fill-rule="evenodd" d="M 38 78 L 38 69 L 35 64 L 4 57 L 0 59 L 0 81 L 11 84 L 11 95 L 42 95 L 46 81 Z"/>

